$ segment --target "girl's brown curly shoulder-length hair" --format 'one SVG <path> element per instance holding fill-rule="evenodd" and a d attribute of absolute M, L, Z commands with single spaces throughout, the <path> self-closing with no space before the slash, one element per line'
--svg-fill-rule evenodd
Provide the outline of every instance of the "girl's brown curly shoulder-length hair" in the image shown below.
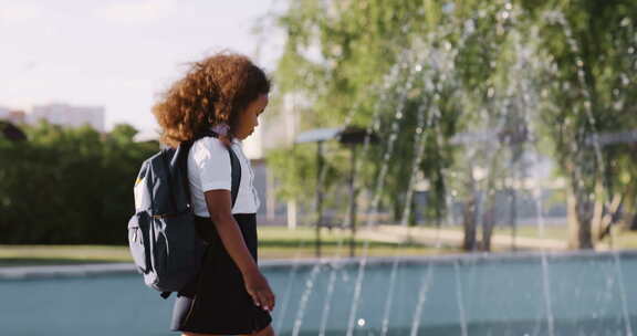
<path fill-rule="evenodd" d="M 230 126 L 232 139 L 240 113 L 269 92 L 270 80 L 244 55 L 221 52 L 191 63 L 153 106 L 161 127 L 159 140 L 177 147 L 219 123 Z"/>

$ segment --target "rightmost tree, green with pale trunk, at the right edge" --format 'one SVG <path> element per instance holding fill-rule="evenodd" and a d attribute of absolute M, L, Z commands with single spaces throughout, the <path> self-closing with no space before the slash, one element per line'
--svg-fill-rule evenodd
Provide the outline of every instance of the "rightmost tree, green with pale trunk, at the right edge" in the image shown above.
<path fill-rule="evenodd" d="M 546 11 L 551 8 L 551 11 Z M 555 156 L 570 179 L 576 230 L 573 246 L 594 246 L 597 216 L 616 195 L 634 189 L 617 167 L 617 146 L 605 147 L 599 135 L 635 125 L 634 1 L 549 1 L 532 7 L 550 66 L 543 118 Z M 630 102 L 630 103 L 628 103 Z M 624 128 L 626 129 L 626 128 Z M 629 170 L 633 168 L 629 168 Z M 597 202 L 597 206 L 595 204 Z M 635 200 L 630 201 L 633 204 Z"/>

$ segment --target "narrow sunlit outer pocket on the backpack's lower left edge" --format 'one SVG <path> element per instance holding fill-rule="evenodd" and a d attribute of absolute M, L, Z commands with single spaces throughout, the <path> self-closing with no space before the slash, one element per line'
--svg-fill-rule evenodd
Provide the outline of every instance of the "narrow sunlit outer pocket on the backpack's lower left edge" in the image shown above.
<path fill-rule="evenodd" d="M 150 265 L 148 224 L 146 212 L 137 212 L 128 220 L 128 248 L 137 271 L 142 274 L 147 273 Z"/>

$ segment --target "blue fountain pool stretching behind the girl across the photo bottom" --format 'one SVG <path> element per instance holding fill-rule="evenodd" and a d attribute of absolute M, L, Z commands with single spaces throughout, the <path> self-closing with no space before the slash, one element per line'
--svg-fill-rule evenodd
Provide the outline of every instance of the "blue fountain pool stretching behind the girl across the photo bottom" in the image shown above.
<path fill-rule="evenodd" d="M 637 252 L 262 263 L 279 335 L 628 335 Z M 138 274 L 0 277 L 0 335 L 177 335 Z"/>

